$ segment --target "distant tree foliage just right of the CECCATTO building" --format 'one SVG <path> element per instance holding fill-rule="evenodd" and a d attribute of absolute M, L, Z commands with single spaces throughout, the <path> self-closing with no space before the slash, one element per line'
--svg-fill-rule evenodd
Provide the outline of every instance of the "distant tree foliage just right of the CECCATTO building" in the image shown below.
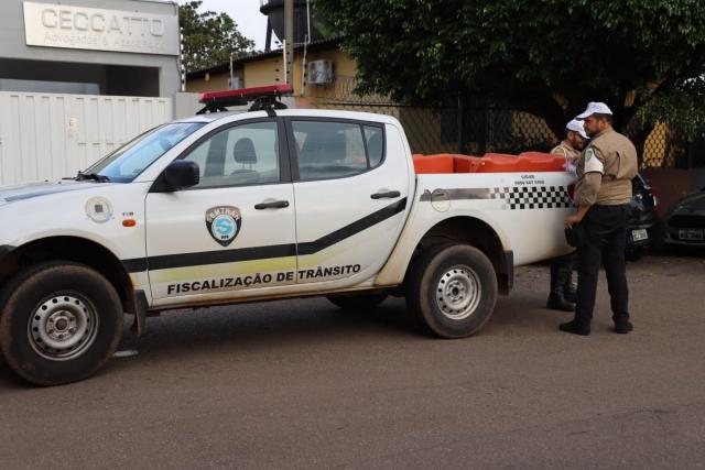
<path fill-rule="evenodd" d="M 178 22 L 184 34 L 186 72 L 225 64 L 230 54 L 241 56 L 254 47 L 227 13 L 198 12 L 203 1 L 188 1 L 178 7 Z"/>

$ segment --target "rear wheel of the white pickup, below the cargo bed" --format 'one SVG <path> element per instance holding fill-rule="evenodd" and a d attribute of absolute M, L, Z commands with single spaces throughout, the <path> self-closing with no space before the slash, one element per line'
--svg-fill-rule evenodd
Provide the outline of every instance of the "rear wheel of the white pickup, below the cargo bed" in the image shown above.
<path fill-rule="evenodd" d="M 406 284 L 406 306 L 441 338 L 478 331 L 497 302 L 492 263 L 474 247 L 445 244 L 422 253 Z"/>

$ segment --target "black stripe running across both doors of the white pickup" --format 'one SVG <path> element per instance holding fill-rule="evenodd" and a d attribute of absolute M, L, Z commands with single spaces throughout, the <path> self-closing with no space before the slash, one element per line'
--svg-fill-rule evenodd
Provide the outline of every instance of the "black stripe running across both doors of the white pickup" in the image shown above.
<path fill-rule="evenodd" d="M 366 230 L 383 220 L 387 220 L 406 208 L 406 198 L 389 205 L 376 212 L 370 214 L 355 222 L 343 227 L 318 240 L 300 243 L 299 254 L 314 254 L 328 247 L 338 243 L 346 238 L 350 238 L 362 230 Z M 169 270 L 173 267 L 199 266 L 206 264 L 232 263 L 238 261 L 267 260 L 273 258 L 295 256 L 296 245 L 278 244 L 269 247 L 238 248 L 235 250 L 203 251 L 195 253 L 164 254 L 150 256 L 149 259 L 137 258 L 122 260 L 124 269 L 130 273 L 145 271 L 148 265 L 152 271 Z"/>

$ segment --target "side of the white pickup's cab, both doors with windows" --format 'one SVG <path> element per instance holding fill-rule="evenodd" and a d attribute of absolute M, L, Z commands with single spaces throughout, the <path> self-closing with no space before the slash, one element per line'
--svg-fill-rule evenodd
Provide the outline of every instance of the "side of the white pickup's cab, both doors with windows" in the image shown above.
<path fill-rule="evenodd" d="M 141 178 L 155 182 L 144 198 L 152 306 L 339 289 L 380 271 L 414 189 L 391 118 L 235 114 L 198 134 Z M 198 182 L 164 185 L 174 162 L 197 165 Z"/>

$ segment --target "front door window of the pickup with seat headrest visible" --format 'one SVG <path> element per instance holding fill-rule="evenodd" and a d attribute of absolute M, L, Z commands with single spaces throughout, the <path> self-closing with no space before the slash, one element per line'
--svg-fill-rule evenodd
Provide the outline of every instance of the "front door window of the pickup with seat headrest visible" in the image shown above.
<path fill-rule="evenodd" d="M 276 122 L 252 122 L 224 129 L 191 151 L 185 161 L 200 168 L 195 188 L 279 183 Z"/>

